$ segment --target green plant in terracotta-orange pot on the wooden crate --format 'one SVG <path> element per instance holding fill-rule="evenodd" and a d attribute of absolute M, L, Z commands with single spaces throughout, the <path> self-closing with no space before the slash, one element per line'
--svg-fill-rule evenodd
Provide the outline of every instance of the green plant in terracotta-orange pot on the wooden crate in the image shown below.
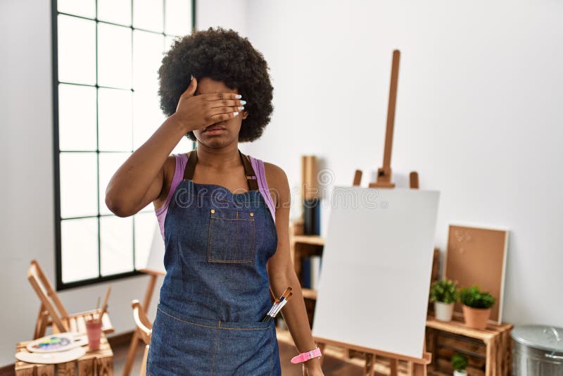
<path fill-rule="evenodd" d="M 472 286 L 461 290 L 460 301 L 463 304 L 465 325 L 485 329 L 495 298 L 488 292 L 481 292 L 479 286 Z"/>

